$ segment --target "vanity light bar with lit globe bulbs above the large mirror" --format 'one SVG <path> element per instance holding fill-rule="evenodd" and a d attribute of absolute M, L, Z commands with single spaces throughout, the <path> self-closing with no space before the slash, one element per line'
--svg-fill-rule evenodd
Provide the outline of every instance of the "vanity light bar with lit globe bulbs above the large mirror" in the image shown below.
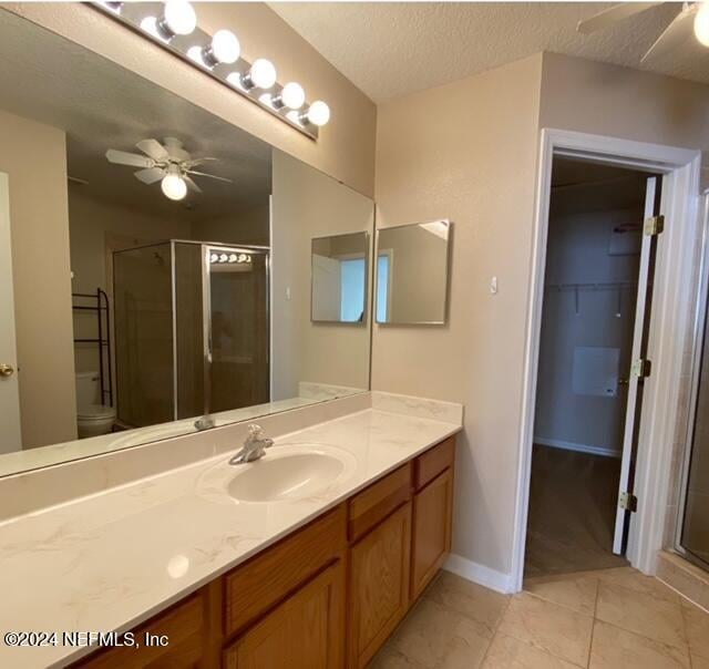
<path fill-rule="evenodd" d="M 104 0 L 92 4 L 312 140 L 318 138 L 319 128 L 330 120 L 330 107 L 321 100 L 308 104 L 300 84 L 279 84 L 270 61 L 259 58 L 249 63 L 243 59 L 238 38 L 233 32 L 217 30 L 210 35 L 202 30 L 187 0 Z"/>

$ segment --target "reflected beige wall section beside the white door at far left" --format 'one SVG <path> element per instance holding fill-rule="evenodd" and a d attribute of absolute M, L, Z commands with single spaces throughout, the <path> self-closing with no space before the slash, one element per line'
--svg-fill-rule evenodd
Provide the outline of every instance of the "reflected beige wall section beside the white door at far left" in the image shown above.
<path fill-rule="evenodd" d="M 76 439 L 63 131 L 0 111 L 23 447 Z"/>

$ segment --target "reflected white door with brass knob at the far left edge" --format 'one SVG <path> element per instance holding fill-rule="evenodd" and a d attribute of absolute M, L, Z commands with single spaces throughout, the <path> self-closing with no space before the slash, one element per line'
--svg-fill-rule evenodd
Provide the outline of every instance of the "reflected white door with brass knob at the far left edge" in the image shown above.
<path fill-rule="evenodd" d="M 22 447 L 17 369 L 10 246 L 10 188 L 8 175 L 0 173 L 0 425 L 2 425 L 0 453 L 19 451 Z"/>

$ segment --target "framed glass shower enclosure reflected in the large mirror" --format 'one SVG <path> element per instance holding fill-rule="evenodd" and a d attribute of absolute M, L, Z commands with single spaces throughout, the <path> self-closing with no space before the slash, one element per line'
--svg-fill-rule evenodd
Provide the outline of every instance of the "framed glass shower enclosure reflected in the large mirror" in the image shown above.
<path fill-rule="evenodd" d="M 268 250 L 165 241 L 113 254 L 117 420 L 269 401 Z"/>

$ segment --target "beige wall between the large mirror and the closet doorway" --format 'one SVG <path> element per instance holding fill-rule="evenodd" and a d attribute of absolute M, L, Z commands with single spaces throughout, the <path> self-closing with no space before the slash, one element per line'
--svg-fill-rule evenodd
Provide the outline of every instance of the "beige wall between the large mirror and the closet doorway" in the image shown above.
<path fill-rule="evenodd" d="M 450 320 L 374 325 L 372 388 L 465 403 L 453 550 L 510 568 L 542 58 L 387 103 L 378 226 L 450 218 Z M 490 295 L 497 276 L 500 292 Z"/>

